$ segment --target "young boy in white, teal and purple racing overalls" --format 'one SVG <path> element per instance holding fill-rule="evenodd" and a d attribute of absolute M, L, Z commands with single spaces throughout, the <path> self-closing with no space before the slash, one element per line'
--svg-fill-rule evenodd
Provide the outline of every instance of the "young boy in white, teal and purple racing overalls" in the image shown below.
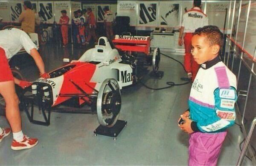
<path fill-rule="evenodd" d="M 216 165 L 226 129 L 235 123 L 236 76 L 221 62 L 221 46 L 217 26 L 195 30 L 192 55 L 201 67 L 192 84 L 189 110 L 180 116 L 185 123 L 179 125 L 190 134 L 190 166 Z"/>

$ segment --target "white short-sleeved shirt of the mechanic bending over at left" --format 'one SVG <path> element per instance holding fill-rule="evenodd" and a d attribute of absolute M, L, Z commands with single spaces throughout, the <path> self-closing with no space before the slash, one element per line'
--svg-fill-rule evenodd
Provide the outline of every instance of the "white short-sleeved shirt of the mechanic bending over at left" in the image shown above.
<path fill-rule="evenodd" d="M 31 49 L 37 49 L 29 35 L 17 28 L 9 28 L 0 31 L 0 47 L 4 49 L 8 60 L 23 47 L 29 54 Z"/>

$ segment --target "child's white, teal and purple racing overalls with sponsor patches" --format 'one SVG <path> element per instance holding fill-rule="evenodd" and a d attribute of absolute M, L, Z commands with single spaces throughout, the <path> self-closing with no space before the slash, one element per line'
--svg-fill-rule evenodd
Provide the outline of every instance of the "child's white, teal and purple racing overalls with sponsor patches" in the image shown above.
<path fill-rule="evenodd" d="M 201 65 L 189 96 L 189 165 L 216 165 L 226 129 L 235 123 L 236 76 L 219 57 Z"/>

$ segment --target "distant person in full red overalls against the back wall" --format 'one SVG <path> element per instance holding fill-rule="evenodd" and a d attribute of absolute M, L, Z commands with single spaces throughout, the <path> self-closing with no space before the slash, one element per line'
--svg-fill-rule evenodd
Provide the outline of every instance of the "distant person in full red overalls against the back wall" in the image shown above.
<path fill-rule="evenodd" d="M 67 17 L 67 11 L 66 10 L 61 10 L 61 18 L 59 23 L 61 24 L 61 34 L 62 34 L 62 39 L 63 39 L 63 47 L 67 46 L 68 43 L 68 22 L 69 22 L 69 17 Z"/>

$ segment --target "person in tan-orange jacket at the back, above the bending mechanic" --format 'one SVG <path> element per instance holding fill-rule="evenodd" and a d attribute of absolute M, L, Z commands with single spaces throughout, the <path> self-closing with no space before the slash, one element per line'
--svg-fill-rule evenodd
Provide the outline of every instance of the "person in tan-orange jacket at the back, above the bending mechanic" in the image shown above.
<path fill-rule="evenodd" d="M 22 11 L 19 17 L 21 28 L 27 33 L 35 33 L 35 12 L 32 11 L 32 4 L 30 1 L 25 0 L 23 3 L 25 11 Z"/>

